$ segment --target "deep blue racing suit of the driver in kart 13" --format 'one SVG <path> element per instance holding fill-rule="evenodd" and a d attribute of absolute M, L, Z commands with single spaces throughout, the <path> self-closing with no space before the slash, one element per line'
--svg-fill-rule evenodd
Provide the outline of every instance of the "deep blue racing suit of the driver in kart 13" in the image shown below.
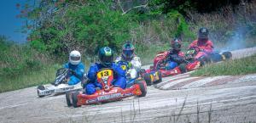
<path fill-rule="evenodd" d="M 86 94 L 90 95 L 96 92 L 96 87 L 100 87 L 102 89 L 102 85 L 96 79 L 96 73 L 103 68 L 106 68 L 106 67 L 98 63 L 90 65 L 90 70 L 88 71 L 88 75 L 87 75 L 90 83 L 88 83 L 85 87 Z M 126 87 L 125 71 L 121 69 L 119 64 L 114 64 L 114 63 L 111 65 L 111 67 L 108 67 L 108 68 L 113 69 L 113 73 L 114 73 L 113 86 L 121 87 L 125 89 Z"/>

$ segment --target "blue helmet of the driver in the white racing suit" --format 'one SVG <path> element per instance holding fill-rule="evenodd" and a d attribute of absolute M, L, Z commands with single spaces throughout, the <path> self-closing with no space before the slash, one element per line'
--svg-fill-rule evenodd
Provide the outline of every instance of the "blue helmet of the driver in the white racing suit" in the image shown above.
<path fill-rule="evenodd" d="M 125 42 L 123 45 L 122 58 L 125 60 L 131 60 L 134 57 L 134 46 L 130 41 Z"/>

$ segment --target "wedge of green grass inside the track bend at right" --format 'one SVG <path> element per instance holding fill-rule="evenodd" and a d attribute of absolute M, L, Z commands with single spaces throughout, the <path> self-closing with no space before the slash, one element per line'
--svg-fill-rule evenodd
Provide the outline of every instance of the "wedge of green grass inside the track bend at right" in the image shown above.
<path fill-rule="evenodd" d="M 207 65 L 196 70 L 194 76 L 217 76 L 217 75 L 247 75 L 256 73 L 256 54 L 253 56 L 234 59 L 219 64 Z"/>

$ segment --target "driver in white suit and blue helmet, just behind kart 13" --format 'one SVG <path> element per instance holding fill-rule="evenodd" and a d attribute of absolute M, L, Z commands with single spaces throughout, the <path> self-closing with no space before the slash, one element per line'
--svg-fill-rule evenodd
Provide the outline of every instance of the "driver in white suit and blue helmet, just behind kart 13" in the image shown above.
<path fill-rule="evenodd" d="M 119 61 L 125 61 L 128 63 L 128 73 L 131 75 L 131 79 L 137 78 L 137 73 L 141 70 L 142 63 L 139 57 L 134 53 L 134 46 L 131 42 L 125 42 L 123 45 L 123 52 L 121 56 L 119 56 L 115 63 L 119 63 Z M 119 64 L 122 65 L 122 64 Z"/>

